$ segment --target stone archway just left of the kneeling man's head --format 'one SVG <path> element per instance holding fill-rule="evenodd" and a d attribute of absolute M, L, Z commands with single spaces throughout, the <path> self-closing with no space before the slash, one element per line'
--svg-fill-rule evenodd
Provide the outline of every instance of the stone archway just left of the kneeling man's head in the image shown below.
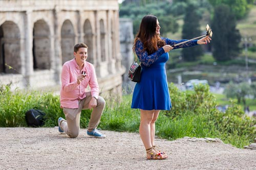
<path fill-rule="evenodd" d="M 75 33 L 70 20 L 65 20 L 61 27 L 62 64 L 74 58 Z"/>

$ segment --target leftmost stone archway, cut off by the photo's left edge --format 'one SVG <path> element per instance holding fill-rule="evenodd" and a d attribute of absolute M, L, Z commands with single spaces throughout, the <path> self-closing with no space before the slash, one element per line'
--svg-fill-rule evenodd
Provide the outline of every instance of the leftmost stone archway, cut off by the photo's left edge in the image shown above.
<path fill-rule="evenodd" d="M 5 21 L 0 26 L 0 72 L 21 74 L 20 31 L 16 23 Z"/>

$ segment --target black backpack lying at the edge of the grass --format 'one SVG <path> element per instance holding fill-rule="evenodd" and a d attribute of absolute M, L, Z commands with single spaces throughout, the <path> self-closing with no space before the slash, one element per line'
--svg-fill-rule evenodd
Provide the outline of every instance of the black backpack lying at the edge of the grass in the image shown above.
<path fill-rule="evenodd" d="M 28 126 L 37 128 L 40 126 L 43 126 L 45 124 L 44 122 L 44 116 L 46 114 L 38 109 L 30 109 L 26 112 L 25 118 Z"/>

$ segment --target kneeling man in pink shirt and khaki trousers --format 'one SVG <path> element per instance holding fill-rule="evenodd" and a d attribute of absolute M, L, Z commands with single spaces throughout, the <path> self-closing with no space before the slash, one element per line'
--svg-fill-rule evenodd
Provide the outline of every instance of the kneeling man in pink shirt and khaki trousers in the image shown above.
<path fill-rule="evenodd" d="M 86 61 L 88 46 L 78 43 L 74 46 L 75 58 L 63 64 L 61 71 L 60 107 L 66 116 L 58 118 L 59 132 L 75 138 L 79 134 L 82 109 L 93 109 L 87 134 L 105 138 L 96 128 L 100 122 L 105 100 L 99 96 L 93 64 Z M 91 91 L 87 91 L 87 86 Z"/>

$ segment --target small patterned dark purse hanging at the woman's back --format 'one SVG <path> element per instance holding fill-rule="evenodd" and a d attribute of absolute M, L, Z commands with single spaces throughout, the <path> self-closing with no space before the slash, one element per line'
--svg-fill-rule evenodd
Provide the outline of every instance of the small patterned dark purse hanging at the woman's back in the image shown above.
<path fill-rule="evenodd" d="M 129 68 L 128 77 L 132 82 L 140 82 L 140 74 L 141 74 L 141 65 L 137 62 L 137 57 L 135 61 Z"/>

